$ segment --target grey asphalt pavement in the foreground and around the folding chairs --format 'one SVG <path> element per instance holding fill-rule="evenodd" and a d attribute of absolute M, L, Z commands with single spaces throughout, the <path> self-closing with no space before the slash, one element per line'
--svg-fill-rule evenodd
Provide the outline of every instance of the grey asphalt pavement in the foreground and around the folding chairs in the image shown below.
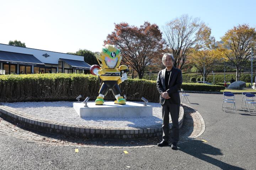
<path fill-rule="evenodd" d="M 241 95 L 235 95 L 240 109 Z M 0 169 L 256 169 L 256 116 L 221 110 L 222 95 L 190 94 L 206 130 L 195 140 L 170 147 L 79 148 L 28 142 L 0 133 Z M 203 142 L 206 140 L 207 142 Z M 128 154 L 124 154 L 124 150 Z M 129 167 L 127 167 L 129 166 Z"/>

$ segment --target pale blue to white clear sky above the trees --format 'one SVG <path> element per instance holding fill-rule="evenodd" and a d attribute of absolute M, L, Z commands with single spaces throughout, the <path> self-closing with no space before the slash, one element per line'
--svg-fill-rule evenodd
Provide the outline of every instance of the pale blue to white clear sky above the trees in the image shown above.
<path fill-rule="evenodd" d="M 0 43 L 20 40 L 27 47 L 75 52 L 98 51 L 114 23 L 160 28 L 182 14 L 199 17 L 218 41 L 228 29 L 256 27 L 254 0 L 0 0 Z"/>

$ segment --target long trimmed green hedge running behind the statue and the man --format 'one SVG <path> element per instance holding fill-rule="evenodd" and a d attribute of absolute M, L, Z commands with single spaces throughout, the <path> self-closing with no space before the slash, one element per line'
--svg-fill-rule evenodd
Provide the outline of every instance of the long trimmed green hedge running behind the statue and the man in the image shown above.
<path fill-rule="evenodd" d="M 121 95 L 129 101 L 141 101 L 145 97 L 150 102 L 159 102 L 156 81 L 128 79 L 120 85 Z M 199 83 L 183 83 L 186 91 L 220 91 L 224 86 Z M 79 95 L 95 100 L 100 89 L 100 80 L 89 74 L 22 74 L 0 75 L 0 102 L 25 101 L 74 101 Z M 112 92 L 104 98 L 115 100 Z"/>

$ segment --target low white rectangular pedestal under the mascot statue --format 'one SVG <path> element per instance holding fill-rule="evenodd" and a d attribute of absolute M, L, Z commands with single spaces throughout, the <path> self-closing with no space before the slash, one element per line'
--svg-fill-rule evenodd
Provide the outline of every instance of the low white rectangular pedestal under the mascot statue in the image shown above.
<path fill-rule="evenodd" d="M 94 102 L 73 103 L 73 107 L 79 117 L 97 118 L 126 118 L 126 117 L 149 117 L 153 115 L 152 106 L 143 106 L 141 103 L 126 102 L 124 105 L 114 104 L 114 102 L 104 102 L 103 105 L 95 105 Z"/>

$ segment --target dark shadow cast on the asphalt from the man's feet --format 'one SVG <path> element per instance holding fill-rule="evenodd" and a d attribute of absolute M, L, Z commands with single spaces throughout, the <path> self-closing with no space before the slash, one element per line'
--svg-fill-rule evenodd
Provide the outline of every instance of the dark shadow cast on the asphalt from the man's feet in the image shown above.
<path fill-rule="evenodd" d="M 223 155 L 223 154 L 220 151 L 220 149 L 210 146 L 210 145 L 204 143 L 203 141 L 191 140 L 186 143 L 180 144 L 181 147 L 182 147 L 182 145 L 187 145 L 188 147 L 184 146 L 183 148 L 179 149 L 180 151 L 190 154 L 191 156 L 201 159 L 201 160 L 208 162 L 212 165 L 218 166 L 220 169 L 244 170 L 243 168 L 240 168 L 238 166 L 233 166 L 233 165 L 227 164 L 225 162 L 222 162 L 218 159 L 215 159 L 215 158 L 212 158 L 212 157 L 206 155 L 206 154 L 209 154 L 209 155 Z"/>

